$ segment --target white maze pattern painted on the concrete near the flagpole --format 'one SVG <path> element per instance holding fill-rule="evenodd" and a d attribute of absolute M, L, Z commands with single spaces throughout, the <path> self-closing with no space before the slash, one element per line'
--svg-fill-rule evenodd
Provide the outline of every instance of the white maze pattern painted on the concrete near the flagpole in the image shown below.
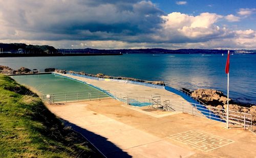
<path fill-rule="evenodd" d="M 214 136 L 212 134 L 198 130 L 181 132 L 169 136 L 168 138 L 205 152 L 223 147 L 234 142 L 232 140 Z"/>

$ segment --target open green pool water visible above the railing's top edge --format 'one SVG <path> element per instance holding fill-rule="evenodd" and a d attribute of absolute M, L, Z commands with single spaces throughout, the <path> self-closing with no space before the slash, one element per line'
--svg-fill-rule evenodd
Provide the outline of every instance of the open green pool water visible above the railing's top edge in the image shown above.
<path fill-rule="evenodd" d="M 98 89 L 54 74 L 12 76 L 18 83 L 33 87 L 40 94 L 99 91 Z"/>

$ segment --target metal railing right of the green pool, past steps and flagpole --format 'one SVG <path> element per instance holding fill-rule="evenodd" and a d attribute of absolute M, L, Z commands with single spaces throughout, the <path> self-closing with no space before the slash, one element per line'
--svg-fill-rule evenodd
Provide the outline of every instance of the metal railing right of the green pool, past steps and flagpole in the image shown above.
<path fill-rule="evenodd" d="M 187 95 L 190 93 L 184 91 Z M 124 94 L 113 93 L 113 96 L 120 101 L 134 106 L 147 106 L 150 105 L 153 108 L 158 108 L 166 111 L 182 111 L 193 116 L 208 118 L 215 121 L 226 122 L 226 109 L 217 108 L 214 106 L 208 106 L 197 99 L 200 104 L 191 102 L 177 102 L 173 100 L 165 100 L 161 102 L 160 96 L 152 95 L 149 97 L 131 97 Z M 242 125 L 244 129 L 246 127 L 254 126 L 252 122 L 252 115 L 245 112 L 238 112 L 229 110 L 229 123 L 234 125 Z"/>

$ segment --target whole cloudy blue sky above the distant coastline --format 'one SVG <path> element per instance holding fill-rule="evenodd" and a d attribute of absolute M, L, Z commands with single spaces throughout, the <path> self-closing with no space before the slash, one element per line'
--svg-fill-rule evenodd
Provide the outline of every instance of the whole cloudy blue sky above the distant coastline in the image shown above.
<path fill-rule="evenodd" d="M 0 42 L 95 49 L 256 49 L 255 0 L 0 0 Z"/>

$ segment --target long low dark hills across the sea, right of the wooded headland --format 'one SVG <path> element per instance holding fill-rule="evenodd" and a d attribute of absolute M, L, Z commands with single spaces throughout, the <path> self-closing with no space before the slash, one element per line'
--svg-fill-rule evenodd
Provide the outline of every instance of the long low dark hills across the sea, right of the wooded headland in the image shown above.
<path fill-rule="evenodd" d="M 113 54 L 222 54 L 227 53 L 227 50 L 204 50 L 204 49 L 120 49 L 120 50 L 98 50 L 98 49 L 58 49 L 59 53 L 113 53 Z M 256 53 L 256 50 L 230 50 L 230 53 Z"/>

